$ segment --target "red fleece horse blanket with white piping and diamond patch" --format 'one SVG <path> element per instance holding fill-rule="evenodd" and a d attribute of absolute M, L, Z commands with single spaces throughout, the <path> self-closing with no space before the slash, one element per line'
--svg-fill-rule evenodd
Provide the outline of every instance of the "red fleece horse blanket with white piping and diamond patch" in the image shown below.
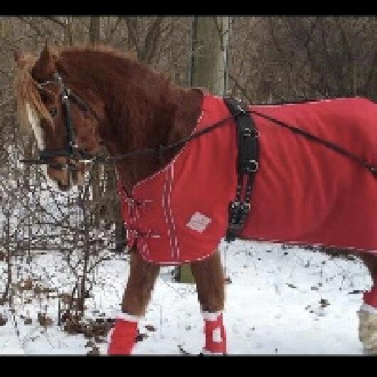
<path fill-rule="evenodd" d="M 377 105 L 361 98 L 251 106 L 377 164 Z M 207 95 L 196 131 L 229 117 Z M 377 179 L 355 161 L 253 115 L 260 166 L 241 238 L 353 248 L 377 255 Z M 144 260 L 180 264 L 211 255 L 235 196 L 235 124 L 188 142 L 127 196 L 119 182 L 129 246 Z"/>

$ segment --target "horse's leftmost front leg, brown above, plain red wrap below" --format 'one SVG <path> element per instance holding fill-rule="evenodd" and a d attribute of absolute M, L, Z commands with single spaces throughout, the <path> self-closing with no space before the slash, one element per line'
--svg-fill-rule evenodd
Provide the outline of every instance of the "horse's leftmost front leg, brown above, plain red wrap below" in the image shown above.
<path fill-rule="evenodd" d="M 131 354 L 136 343 L 137 323 L 145 315 L 158 273 L 159 265 L 145 262 L 136 250 L 131 253 L 122 314 L 117 316 L 115 326 L 110 332 L 107 349 L 109 355 Z"/>

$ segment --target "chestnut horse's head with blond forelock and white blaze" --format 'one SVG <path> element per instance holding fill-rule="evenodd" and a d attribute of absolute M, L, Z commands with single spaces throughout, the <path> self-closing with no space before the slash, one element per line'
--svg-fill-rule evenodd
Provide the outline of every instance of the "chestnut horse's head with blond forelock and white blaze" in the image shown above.
<path fill-rule="evenodd" d="M 32 55 L 15 53 L 18 65 L 16 94 L 18 114 L 22 124 L 33 131 L 41 151 L 68 151 L 68 144 L 74 141 L 80 150 L 96 152 L 100 147 L 98 137 L 99 118 L 96 113 L 85 108 L 80 97 L 75 101 L 68 99 L 69 117 L 73 134 L 70 134 L 68 117 L 63 104 L 63 87 L 58 80 L 60 71 L 68 80 L 69 71 L 59 61 L 58 52 L 48 46 L 39 58 Z M 73 139 L 74 138 L 74 139 Z M 69 156 L 50 155 L 44 169 L 46 178 L 66 191 L 71 184 L 82 184 L 85 163 Z M 66 166 L 70 164 L 70 169 Z M 56 185 L 55 185 L 56 186 Z"/>

